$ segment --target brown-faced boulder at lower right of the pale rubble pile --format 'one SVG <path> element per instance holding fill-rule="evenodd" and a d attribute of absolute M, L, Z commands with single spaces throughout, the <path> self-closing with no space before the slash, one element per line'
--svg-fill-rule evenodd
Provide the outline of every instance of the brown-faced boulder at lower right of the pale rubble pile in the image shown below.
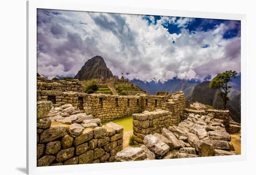
<path fill-rule="evenodd" d="M 207 144 L 202 140 L 194 141 L 194 146 L 195 146 L 195 150 L 202 157 L 215 155 L 214 147 L 211 144 Z"/>

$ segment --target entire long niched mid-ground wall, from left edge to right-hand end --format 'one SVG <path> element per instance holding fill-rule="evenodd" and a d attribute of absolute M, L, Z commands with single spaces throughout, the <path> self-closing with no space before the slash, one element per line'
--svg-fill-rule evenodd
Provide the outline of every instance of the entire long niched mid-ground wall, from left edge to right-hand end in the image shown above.
<path fill-rule="evenodd" d="M 120 96 L 37 90 L 37 100 L 52 101 L 54 107 L 70 103 L 75 109 L 80 109 L 81 112 L 92 114 L 95 118 L 99 118 L 103 121 L 128 114 L 141 113 L 145 110 L 154 111 L 156 109 L 162 109 L 172 113 L 173 117 L 169 122 L 173 125 L 177 125 L 184 109 L 183 93 L 168 96 Z"/>

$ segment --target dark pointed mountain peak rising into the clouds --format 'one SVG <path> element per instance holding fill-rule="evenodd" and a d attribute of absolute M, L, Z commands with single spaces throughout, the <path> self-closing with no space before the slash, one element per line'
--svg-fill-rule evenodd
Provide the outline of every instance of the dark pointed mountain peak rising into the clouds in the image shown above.
<path fill-rule="evenodd" d="M 74 78 L 82 81 L 100 78 L 109 79 L 111 77 L 113 77 L 113 74 L 104 59 L 101 56 L 94 56 L 84 63 Z"/>

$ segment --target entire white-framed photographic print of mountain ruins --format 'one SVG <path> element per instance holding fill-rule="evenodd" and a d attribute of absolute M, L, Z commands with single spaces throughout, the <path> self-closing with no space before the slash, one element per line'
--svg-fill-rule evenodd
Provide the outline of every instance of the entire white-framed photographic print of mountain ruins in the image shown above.
<path fill-rule="evenodd" d="M 245 15 L 27 2 L 27 173 L 245 159 Z"/>

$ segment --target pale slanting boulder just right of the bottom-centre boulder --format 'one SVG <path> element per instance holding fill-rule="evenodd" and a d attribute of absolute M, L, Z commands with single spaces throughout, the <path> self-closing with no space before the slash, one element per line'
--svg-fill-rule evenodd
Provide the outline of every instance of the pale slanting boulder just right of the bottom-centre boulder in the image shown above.
<path fill-rule="evenodd" d="M 143 144 L 148 147 L 149 150 L 155 153 L 155 156 L 158 158 L 162 158 L 169 151 L 169 146 L 162 142 L 157 137 L 152 134 L 147 135 L 143 139 Z"/>

